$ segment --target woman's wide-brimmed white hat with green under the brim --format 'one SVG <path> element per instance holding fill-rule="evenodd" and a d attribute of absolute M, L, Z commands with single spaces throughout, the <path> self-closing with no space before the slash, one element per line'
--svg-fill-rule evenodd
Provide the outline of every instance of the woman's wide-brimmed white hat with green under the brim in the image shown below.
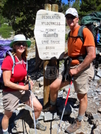
<path fill-rule="evenodd" d="M 21 42 L 21 41 L 26 42 L 27 46 L 30 47 L 31 45 L 30 39 L 26 39 L 26 37 L 23 34 L 15 35 L 13 41 L 10 43 L 10 46 L 13 47 L 13 44 L 15 42 Z"/>

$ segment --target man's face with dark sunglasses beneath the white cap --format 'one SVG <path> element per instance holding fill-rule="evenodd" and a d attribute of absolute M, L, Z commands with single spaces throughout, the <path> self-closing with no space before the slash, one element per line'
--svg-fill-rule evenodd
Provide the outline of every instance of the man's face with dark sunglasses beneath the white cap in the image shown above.
<path fill-rule="evenodd" d="M 78 18 L 71 15 L 71 14 L 68 14 L 66 16 L 66 21 L 67 21 L 67 25 L 72 29 L 75 27 L 75 25 L 78 23 Z"/>

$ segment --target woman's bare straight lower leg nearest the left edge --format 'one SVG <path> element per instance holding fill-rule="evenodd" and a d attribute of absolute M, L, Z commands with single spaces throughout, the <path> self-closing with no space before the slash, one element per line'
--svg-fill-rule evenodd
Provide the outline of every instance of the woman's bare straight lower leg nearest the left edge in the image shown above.
<path fill-rule="evenodd" d="M 12 112 L 5 110 L 4 116 L 2 118 L 2 129 L 7 130 L 9 125 L 9 119 L 12 116 Z"/>

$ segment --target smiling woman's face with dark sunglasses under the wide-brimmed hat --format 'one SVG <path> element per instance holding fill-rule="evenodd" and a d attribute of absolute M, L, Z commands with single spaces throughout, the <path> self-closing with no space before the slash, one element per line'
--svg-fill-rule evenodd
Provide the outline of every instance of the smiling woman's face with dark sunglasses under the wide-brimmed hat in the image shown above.
<path fill-rule="evenodd" d="M 14 44 L 14 49 L 16 50 L 16 53 L 22 54 L 27 47 L 27 44 L 25 42 L 16 42 Z"/>

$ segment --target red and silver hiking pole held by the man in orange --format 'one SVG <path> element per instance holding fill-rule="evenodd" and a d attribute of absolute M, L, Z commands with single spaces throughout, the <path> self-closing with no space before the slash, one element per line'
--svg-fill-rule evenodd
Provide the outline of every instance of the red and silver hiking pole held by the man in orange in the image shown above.
<path fill-rule="evenodd" d="M 59 128 L 60 128 L 60 125 L 61 125 L 61 122 L 62 122 L 62 118 L 63 118 L 64 112 L 65 112 L 65 109 L 66 109 L 66 105 L 67 105 L 67 102 L 68 102 L 68 97 L 69 97 L 69 93 L 70 93 L 71 86 L 72 86 L 72 80 L 71 80 L 70 85 L 69 85 L 69 90 L 68 90 L 67 97 L 66 97 L 66 101 L 65 101 L 64 108 L 63 108 L 63 111 L 62 111 L 60 123 L 59 123 L 59 125 L 58 125 L 57 134 L 59 133 Z"/>

